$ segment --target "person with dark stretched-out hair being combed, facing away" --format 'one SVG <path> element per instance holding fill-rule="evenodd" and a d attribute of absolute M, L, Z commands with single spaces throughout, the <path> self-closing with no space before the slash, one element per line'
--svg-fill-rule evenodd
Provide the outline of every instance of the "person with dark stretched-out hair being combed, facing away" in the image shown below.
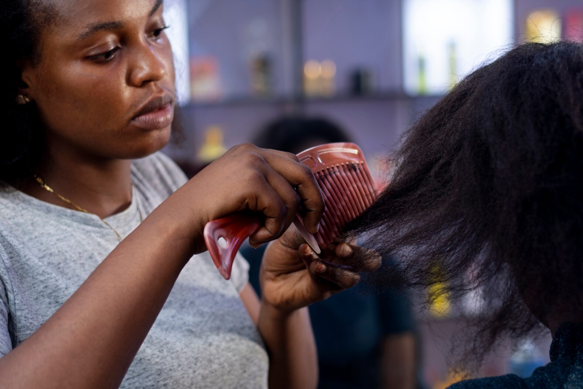
<path fill-rule="evenodd" d="M 353 226 L 403 258 L 384 282 L 484 288 L 464 362 L 502 335 L 553 335 L 552 362 L 532 377 L 452 388 L 583 387 L 582 96 L 581 44 L 519 45 L 409 130 L 391 183 Z"/>

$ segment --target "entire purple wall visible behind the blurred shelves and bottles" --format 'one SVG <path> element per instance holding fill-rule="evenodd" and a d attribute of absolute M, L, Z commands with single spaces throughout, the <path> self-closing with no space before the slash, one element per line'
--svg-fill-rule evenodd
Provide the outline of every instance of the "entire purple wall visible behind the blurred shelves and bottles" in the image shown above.
<path fill-rule="evenodd" d="M 335 61 L 339 92 L 347 89 L 349 74 L 356 67 L 371 69 L 378 89 L 391 92 L 386 99 L 308 101 L 305 112 L 339 122 L 353 132 L 367 153 L 378 154 L 385 146 L 392 147 L 420 112 L 437 101 L 394 93 L 402 84 L 401 0 L 190 0 L 191 54 L 217 57 L 227 97 L 240 97 L 250 90 L 249 53 L 263 48 L 273 58 L 275 94 L 289 92 L 285 83 L 290 75 L 285 69 L 290 69 L 289 51 L 293 48 L 286 20 L 293 1 L 302 4 L 303 58 Z M 583 4 L 577 0 L 516 0 L 516 32 L 524 33 L 526 15 L 532 10 L 553 8 L 563 14 L 573 6 Z M 250 31 L 254 30 L 262 38 L 252 37 Z M 223 127 L 226 145 L 233 146 L 250 140 L 285 108 L 257 101 L 190 107 L 185 123 L 189 138 L 181 156 L 192 155 L 200 145 L 201 132 L 209 125 Z"/>

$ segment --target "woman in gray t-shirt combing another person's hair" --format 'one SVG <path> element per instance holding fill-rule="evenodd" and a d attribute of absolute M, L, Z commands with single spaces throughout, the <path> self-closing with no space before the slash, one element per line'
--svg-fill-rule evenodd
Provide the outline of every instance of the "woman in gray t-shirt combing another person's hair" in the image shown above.
<path fill-rule="evenodd" d="M 206 222 L 262 212 L 258 246 L 300 205 L 314 232 L 322 198 L 285 153 L 242 145 L 188 182 L 156 153 L 174 110 L 162 8 L 2 2 L 3 387 L 314 387 L 304 307 L 378 267 L 325 265 L 292 231 L 267 250 L 261 302 L 242 258 L 220 278 L 201 254 Z M 331 249 L 332 261 L 358 252 Z"/>

